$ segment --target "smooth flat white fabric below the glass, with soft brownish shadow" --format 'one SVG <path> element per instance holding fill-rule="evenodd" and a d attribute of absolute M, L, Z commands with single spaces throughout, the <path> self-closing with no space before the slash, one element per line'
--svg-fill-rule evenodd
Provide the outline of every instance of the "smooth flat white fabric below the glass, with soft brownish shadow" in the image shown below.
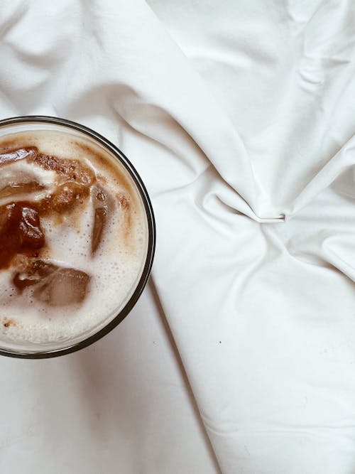
<path fill-rule="evenodd" d="M 219 473 L 154 295 L 80 352 L 1 358 L 1 474 Z"/>

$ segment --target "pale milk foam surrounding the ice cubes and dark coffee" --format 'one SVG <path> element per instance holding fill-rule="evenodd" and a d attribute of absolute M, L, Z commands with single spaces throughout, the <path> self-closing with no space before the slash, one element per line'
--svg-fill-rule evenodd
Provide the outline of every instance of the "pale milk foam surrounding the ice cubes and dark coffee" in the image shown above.
<path fill-rule="evenodd" d="M 93 142 L 59 131 L 43 130 L 5 136 L 0 141 L 0 149 L 11 140 L 13 148 L 36 146 L 41 153 L 75 159 L 92 168 L 98 181 L 114 197 L 114 210 L 94 255 L 91 252 L 94 210 L 90 200 L 78 205 L 71 214 L 61 216 L 60 220 L 58 215 L 48 215 L 41 220 L 47 248 L 40 258 L 58 266 L 82 270 L 91 276 L 87 296 L 81 305 L 48 306 L 31 297 L 31 287 L 18 293 L 12 284 L 13 269 L 0 270 L 1 339 L 51 343 L 86 338 L 121 311 L 141 278 L 148 248 L 148 225 L 141 196 L 124 167 Z M 11 144 L 7 146 L 11 149 Z M 19 175 L 32 173 L 45 184 L 47 193 L 55 188 L 57 173 L 26 161 L 3 166 L 0 188 L 10 167 Z M 43 190 L 29 193 L 26 200 L 42 199 L 43 193 Z M 122 195 L 129 201 L 129 210 L 121 206 L 119 197 Z M 16 195 L 11 202 L 21 199 L 23 195 Z M 0 205 L 3 201 L 6 199 L 3 198 Z"/>

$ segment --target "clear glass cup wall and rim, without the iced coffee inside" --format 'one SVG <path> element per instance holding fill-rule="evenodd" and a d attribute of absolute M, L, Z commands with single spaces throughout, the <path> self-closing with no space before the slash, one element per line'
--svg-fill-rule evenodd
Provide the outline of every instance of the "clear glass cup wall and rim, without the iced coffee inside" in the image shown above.
<path fill-rule="evenodd" d="M 0 120 L 0 138 L 8 134 L 34 130 L 64 131 L 66 134 L 92 141 L 96 146 L 102 147 L 102 149 L 108 152 L 112 159 L 119 161 L 121 166 L 124 166 L 126 172 L 131 177 L 133 184 L 136 186 L 136 190 L 138 190 L 143 206 L 146 210 L 148 248 L 141 276 L 136 281 L 136 285 L 131 289 L 131 293 L 127 296 L 123 306 L 121 306 L 121 308 L 119 308 L 119 310 L 113 315 L 108 315 L 107 318 L 104 318 L 101 323 L 98 323 L 93 328 L 90 328 L 80 335 L 76 335 L 74 338 L 56 340 L 55 342 L 50 343 L 16 342 L 15 340 L 9 340 L 0 335 L 0 355 L 21 357 L 24 359 L 42 359 L 69 354 L 70 352 L 86 348 L 88 345 L 109 333 L 129 314 L 138 301 L 139 296 L 141 296 L 151 272 L 155 252 L 155 220 L 151 200 L 149 199 L 141 177 L 138 175 L 129 159 L 124 156 L 124 153 L 96 131 L 75 122 L 70 122 L 66 119 L 45 116 L 25 116 Z"/>

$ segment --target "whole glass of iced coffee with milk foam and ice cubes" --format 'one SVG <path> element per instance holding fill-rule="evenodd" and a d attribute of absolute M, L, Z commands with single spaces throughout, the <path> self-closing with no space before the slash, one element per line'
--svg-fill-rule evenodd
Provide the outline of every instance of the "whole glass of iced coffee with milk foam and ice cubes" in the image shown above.
<path fill-rule="evenodd" d="M 0 121 L 0 354 L 102 338 L 138 300 L 154 248 L 151 201 L 116 146 L 65 119 Z"/>

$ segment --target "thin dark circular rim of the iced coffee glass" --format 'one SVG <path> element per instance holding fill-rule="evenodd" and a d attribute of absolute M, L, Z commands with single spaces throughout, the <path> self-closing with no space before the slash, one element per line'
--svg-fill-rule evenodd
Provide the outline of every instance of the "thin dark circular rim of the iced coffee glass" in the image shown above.
<path fill-rule="evenodd" d="M 88 336 L 79 343 L 68 345 L 67 347 L 62 349 L 25 352 L 21 350 L 6 350 L 0 348 L 0 355 L 5 355 L 7 357 L 16 357 L 20 359 L 48 359 L 51 357 L 59 357 L 60 355 L 67 355 L 72 352 L 76 352 L 77 350 L 84 349 L 92 343 L 96 343 L 97 340 L 103 338 L 105 335 L 110 333 L 111 330 L 116 328 L 116 326 L 119 325 L 119 323 L 121 323 L 124 318 L 126 318 L 126 316 L 131 312 L 133 306 L 135 306 L 136 302 L 138 301 L 138 298 L 141 296 L 141 293 L 147 284 L 149 275 L 151 274 L 151 268 L 153 265 L 153 259 L 155 254 L 155 218 L 151 199 L 149 198 L 146 186 L 144 185 L 141 176 L 139 176 L 138 171 L 136 171 L 136 168 L 134 168 L 131 161 L 129 161 L 129 158 L 127 158 L 126 155 L 116 145 L 112 144 L 111 141 L 97 133 L 97 131 L 89 129 L 89 127 L 84 126 L 82 124 L 78 124 L 77 122 L 72 122 L 71 120 L 62 119 L 59 117 L 50 117 L 46 115 L 24 115 L 19 117 L 11 117 L 9 119 L 2 119 L 0 120 L 0 128 L 2 126 L 20 123 L 46 123 L 65 126 L 68 129 L 75 129 L 77 131 L 82 132 L 83 134 L 86 134 L 95 141 L 98 141 L 99 144 L 102 144 L 102 146 L 104 146 L 104 148 L 111 151 L 111 153 L 113 153 L 113 155 L 120 161 L 120 163 L 122 163 L 126 171 L 128 171 L 129 176 L 131 176 L 131 178 L 133 179 L 133 182 L 137 187 L 138 193 L 141 195 L 144 209 L 146 211 L 146 218 L 148 224 L 148 249 L 146 255 L 146 262 L 143 266 L 141 278 L 139 279 L 138 284 L 136 285 L 136 289 L 133 291 L 131 298 L 129 298 L 129 301 L 127 301 L 124 308 L 122 308 L 121 311 L 119 311 L 119 313 L 111 321 L 109 321 L 109 323 L 107 323 L 107 325 L 104 325 L 104 327 L 98 330 L 97 333 Z"/>

